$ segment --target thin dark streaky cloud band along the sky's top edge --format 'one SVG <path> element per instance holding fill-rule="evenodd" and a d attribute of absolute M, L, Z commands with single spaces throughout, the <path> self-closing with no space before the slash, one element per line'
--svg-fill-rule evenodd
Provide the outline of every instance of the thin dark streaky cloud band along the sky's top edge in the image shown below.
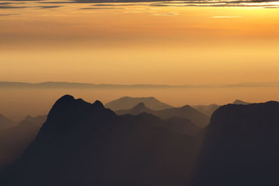
<path fill-rule="evenodd" d="M 6 0 L 6 2 L 0 3 L 0 8 L 27 8 L 24 6 L 8 6 L 11 3 L 27 3 L 36 2 L 43 4 L 50 4 L 52 6 L 40 6 L 39 8 L 59 8 L 60 6 L 53 6 L 53 4 L 70 4 L 75 3 L 77 8 L 80 3 L 89 3 L 90 6 L 172 6 L 172 7 L 186 7 L 186 6 L 201 6 L 201 7 L 259 7 L 259 8 L 278 8 L 279 0 L 60 0 L 60 1 L 40 1 L 40 0 Z M 94 4 L 92 4 L 94 3 Z M 1 6 L 2 5 L 2 6 Z M 86 9 L 98 9 L 98 8 L 79 8 L 80 10 Z M 218 18 L 232 18 L 232 17 L 218 17 Z"/>

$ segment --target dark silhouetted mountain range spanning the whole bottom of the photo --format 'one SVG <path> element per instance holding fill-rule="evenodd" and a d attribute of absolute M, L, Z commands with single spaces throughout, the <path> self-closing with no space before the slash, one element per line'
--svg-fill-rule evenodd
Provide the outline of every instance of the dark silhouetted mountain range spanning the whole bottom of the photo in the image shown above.
<path fill-rule="evenodd" d="M 8 139 L 27 148 L 18 148 L 0 185 L 279 185 L 279 102 L 221 106 L 202 129 L 166 111 L 148 114 L 144 103 L 129 111 L 117 115 L 99 101 L 64 95 L 24 142 L 20 127 L 44 118 L 27 116 Z"/>

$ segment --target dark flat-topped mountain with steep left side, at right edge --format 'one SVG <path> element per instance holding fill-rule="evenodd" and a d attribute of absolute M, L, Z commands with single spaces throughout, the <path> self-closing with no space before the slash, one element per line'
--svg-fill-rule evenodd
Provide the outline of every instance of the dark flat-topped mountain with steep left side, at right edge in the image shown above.
<path fill-rule="evenodd" d="M 202 133 L 193 185 L 279 185 L 279 102 L 227 104 Z"/>

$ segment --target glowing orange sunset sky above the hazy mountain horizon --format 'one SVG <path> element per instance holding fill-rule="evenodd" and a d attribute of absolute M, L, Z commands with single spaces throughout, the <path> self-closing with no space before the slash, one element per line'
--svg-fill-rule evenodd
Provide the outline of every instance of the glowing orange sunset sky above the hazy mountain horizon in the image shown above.
<path fill-rule="evenodd" d="M 0 1 L 0 82 L 279 82 L 278 43 L 279 1 Z M 278 87 L 53 91 L 46 100 L 64 92 L 104 102 L 151 95 L 174 106 L 279 100 Z M 12 105 L 10 95 L 14 107 L 34 98 L 4 90 L 1 105 Z"/>

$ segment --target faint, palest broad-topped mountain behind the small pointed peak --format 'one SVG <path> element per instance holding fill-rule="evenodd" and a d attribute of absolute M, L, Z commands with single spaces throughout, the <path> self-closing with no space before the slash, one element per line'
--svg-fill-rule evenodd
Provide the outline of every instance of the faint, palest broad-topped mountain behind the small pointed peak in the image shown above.
<path fill-rule="evenodd" d="M 172 106 L 170 106 L 169 104 L 160 102 L 154 97 L 148 97 L 148 98 L 123 97 L 123 98 L 119 98 L 118 100 L 108 102 L 107 104 L 105 104 L 105 107 L 112 109 L 113 111 L 116 111 L 121 109 L 130 109 L 132 107 L 135 107 L 135 105 L 139 104 L 140 102 L 143 102 L 146 105 L 146 107 L 149 107 L 150 109 L 153 110 L 172 108 Z"/>

